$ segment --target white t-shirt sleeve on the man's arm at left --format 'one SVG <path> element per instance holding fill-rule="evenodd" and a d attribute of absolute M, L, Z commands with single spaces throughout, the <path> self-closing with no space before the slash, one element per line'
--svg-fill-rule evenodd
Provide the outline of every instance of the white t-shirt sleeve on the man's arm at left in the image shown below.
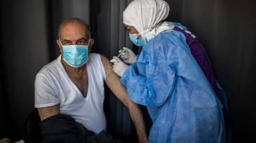
<path fill-rule="evenodd" d="M 37 74 L 35 79 L 35 107 L 50 107 L 59 104 L 57 90 L 44 74 Z"/>

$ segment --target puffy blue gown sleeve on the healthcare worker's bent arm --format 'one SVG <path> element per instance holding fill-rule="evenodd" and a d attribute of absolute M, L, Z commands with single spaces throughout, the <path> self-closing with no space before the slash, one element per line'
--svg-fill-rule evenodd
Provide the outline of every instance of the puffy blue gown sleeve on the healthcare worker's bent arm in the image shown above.
<path fill-rule="evenodd" d="M 159 40 L 161 39 L 161 40 Z M 160 107 L 175 88 L 178 50 L 186 47 L 186 41 L 158 35 L 142 48 L 137 62 L 124 72 L 121 82 L 127 87 L 129 98 L 137 104 Z"/>

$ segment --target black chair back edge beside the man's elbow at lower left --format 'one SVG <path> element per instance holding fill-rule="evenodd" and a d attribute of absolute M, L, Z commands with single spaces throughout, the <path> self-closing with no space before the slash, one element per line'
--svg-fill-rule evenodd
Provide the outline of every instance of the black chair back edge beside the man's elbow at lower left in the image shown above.
<path fill-rule="evenodd" d="M 40 117 L 37 109 L 34 109 L 27 117 L 24 124 L 24 142 L 26 143 L 41 143 L 41 129 L 40 129 Z"/>

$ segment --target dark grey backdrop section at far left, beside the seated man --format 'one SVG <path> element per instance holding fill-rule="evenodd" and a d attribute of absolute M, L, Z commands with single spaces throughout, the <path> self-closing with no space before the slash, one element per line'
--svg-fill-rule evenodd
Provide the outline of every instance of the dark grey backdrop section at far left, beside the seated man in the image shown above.
<path fill-rule="evenodd" d="M 6 128 L 0 137 L 22 139 L 24 120 L 34 109 L 34 81 L 49 61 L 44 1 L 1 1 L 1 92 Z"/>

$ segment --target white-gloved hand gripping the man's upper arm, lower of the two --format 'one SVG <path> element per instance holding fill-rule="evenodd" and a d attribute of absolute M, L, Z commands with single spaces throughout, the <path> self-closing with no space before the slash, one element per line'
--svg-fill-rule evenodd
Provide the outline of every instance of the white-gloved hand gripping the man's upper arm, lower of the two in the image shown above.
<path fill-rule="evenodd" d="M 124 64 L 124 62 L 116 56 L 113 56 L 113 58 L 116 60 L 114 61 L 113 71 L 119 77 L 123 77 L 124 71 L 127 69 L 128 65 Z"/>

